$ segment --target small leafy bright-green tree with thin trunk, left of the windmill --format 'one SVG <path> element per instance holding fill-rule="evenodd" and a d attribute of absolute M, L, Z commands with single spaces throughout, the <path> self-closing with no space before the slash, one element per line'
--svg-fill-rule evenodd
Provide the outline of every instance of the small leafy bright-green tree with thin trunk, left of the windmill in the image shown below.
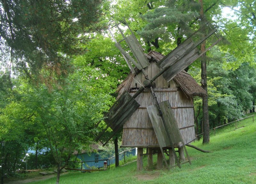
<path fill-rule="evenodd" d="M 21 136 L 24 143 L 45 140 L 57 164 L 56 183 L 59 183 L 60 171 L 68 164 L 73 152 L 86 149 L 93 143 L 92 133 L 97 131 L 94 123 L 102 118 L 101 113 L 108 109 L 112 99 L 102 92 L 104 87 L 101 85 L 107 88 L 109 81 L 95 84 L 97 80 L 82 76 L 80 72 L 78 70 L 65 78 L 62 88 L 52 85 L 51 90 L 44 84 L 33 86 L 22 82 L 14 88 L 19 92 L 19 98 L 2 109 L 0 116 L 1 125 L 5 124 L 1 138 L 16 141 L 20 134 L 24 134 L 26 136 Z M 20 133 L 14 133 L 12 127 L 19 129 Z M 29 134 L 31 131 L 34 134 Z M 30 138 L 26 140 L 28 136 Z"/>

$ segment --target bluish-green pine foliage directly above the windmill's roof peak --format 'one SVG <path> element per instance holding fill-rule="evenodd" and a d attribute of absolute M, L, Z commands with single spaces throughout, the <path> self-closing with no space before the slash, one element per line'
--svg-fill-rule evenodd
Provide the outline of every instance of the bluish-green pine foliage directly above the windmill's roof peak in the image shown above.
<path fill-rule="evenodd" d="M 166 1 L 163 7 L 148 11 L 142 16 L 148 23 L 138 33 L 146 41 L 156 38 L 170 41 L 170 38 L 175 40 L 177 37 L 183 37 L 189 32 L 191 21 L 198 16 L 198 10 L 199 5 L 193 1 Z"/>

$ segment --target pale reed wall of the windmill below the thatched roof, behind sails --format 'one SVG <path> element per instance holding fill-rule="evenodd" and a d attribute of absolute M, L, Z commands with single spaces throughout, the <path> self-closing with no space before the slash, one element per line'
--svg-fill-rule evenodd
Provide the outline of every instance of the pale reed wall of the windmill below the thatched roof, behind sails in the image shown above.
<path fill-rule="evenodd" d="M 157 92 L 160 90 L 163 92 Z M 137 90 L 135 89 L 132 90 L 131 95 L 136 91 Z M 190 98 L 187 98 L 181 90 L 177 91 L 176 88 L 155 88 L 155 91 L 156 97 L 159 101 L 167 99 L 170 101 L 179 128 L 194 125 L 193 102 Z M 146 109 L 146 107 L 155 104 L 153 96 L 150 92 L 146 91 L 141 93 L 136 100 L 141 106 L 124 124 L 122 145 L 129 147 L 152 147 L 154 145 L 158 145 L 156 135 Z M 194 127 L 181 129 L 180 133 L 185 144 L 191 142 L 195 138 Z"/>

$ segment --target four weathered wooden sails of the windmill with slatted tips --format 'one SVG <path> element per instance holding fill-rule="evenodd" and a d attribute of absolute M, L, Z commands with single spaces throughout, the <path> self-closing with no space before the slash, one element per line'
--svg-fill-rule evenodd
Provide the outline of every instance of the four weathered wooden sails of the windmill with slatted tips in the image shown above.
<path fill-rule="evenodd" d="M 129 36 L 125 36 L 119 24 L 124 23 L 130 30 L 131 34 Z M 174 150 L 174 144 L 181 143 L 181 146 L 184 147 L 184 150 L 188 157 L 188 162 L 190 163 L 190 159 L 188 156 L 188 152 L 186 150 L 184 141 L 180 134 L 180 130 L 177 126 L 176 119 L 172 112 L 172 107 L 168 100 L 159 102 L 156 97 L 156 93 L 154 91 L 154 81 L 163 76 L 164 79 L 169 82 L 171 81 L 176 75 L 178 75 L 182 70 L 188 67 L 191 63 L 193 63 L 197 58 L 203 55 L 206 51 L 212 48 L 215 44 L 217 44 L 220 39 L 218 39 L 215 43 L 213 43 L 209 48 L 206 49 L 205 52 L 199 53 L 197 46 L 200 45 L 204 40 L 210 37 L 212 34 L 216 32 L 216 29 L 211 29 L 209 33 L 200 38 L 198 41 L 194 42 L 192 40 L 193 36 L 199 32 L 196 31 L 191 35 L 187 40 L 181 43 L 177 48 L 172 50 L 168 55 L 162 58 L 158 63 L 157 67 L 159 68 L 159 72 L 156 75 L 152 75 L 152 78 L 149 78 L 145 68 L 150 65 L 148 62 L 148 55 L 144 54 L 139 41 L 136 39 L 135 35 L 133 34 L 132 30 L 128 26 L 127 22 L 124 20 L 116 24 L 115 27 L 119 30 L 119 32 L 123 36 L 123 40 L 116 41 L 113 34 L 111 33 L 110 29 L 109 32 L 111 33 L 113 39 L 116 42 L 116 47 L 120 50 L 126 63 L 128 64 L 129 68 L 131 69 L 132 73 L 136 73 L 132 64 L 135 65 L 136 70 L 139 70 L 144 75 L 143 85 L 131 96 L 128 92 L 123 92 L 119 99 L 114 103 L 114 105 L 109 109 L 109 111 L 105 114 L 104 121 L 107 124 L 106 129 L 104 129 L 96 138 L 99 140 L 104 132 L 110 127 L 113 132 L 112 135 L 109 136 L 108 140 L 103 144 L 107 144 L 107 142 L 120 130 L 123 128 L 124 123 L 132 116 L 132 114 L 140 107 L 140 104 L 135 100 L 136 97 L 140 95 L 144 90 L 148 90 L 151 92 L 154 98 L 154 105 L 150 105 L 147 107 L 148 115 L 150 121 L 152 123 L 157 142 L 159 144 L 159 148 L 164 158 L 164 162 L 167 168 L 169 168 L 167 161 L 164 157 L 164 150 L 163 148 L 170 147 Z M 209 25 L 205 25 L 209 26 Z M 210 27 L 210 26 L 209 26 Z M 211 27 L 210 27 L 211 28 Z M 120 42 L 125 41 L 127 44 L 127 48 L 129 51 L 122 48 Z M 132 56 L 130 55 L 132 53 Z M 174 152 L 175 159 L 177 161 L 178 166 L 180 167 L 180 162 Z"/>

